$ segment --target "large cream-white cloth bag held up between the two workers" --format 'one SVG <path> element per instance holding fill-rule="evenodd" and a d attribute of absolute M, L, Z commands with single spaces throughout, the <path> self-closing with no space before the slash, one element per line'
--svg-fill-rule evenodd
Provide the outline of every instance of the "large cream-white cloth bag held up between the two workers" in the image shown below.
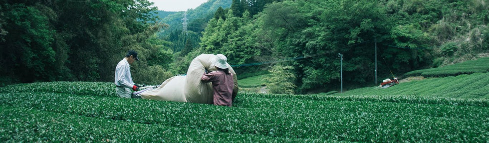
<path fill-rule="evenodd" d="M 187 75 L 171 77 L 158 88 L 145 91 L 139 95 L 144 99 L 213 104 L 212 83 L 204 83 L 201 78 L 206 69 L 208 72 L 217 70 L 212 65 L 212 60 L 215 57 L 214 54 L 201 54 L 192 60 Z M 238 77 L 233 68 L 228 63 L 226 65 L 228 65 L 229 71 L 233 73 L 234 100 L 239 90 Z"/>

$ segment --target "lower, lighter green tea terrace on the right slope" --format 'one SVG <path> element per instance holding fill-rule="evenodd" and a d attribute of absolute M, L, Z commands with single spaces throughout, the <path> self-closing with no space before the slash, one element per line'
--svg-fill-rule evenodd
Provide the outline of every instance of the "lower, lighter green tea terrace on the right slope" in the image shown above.
<path fill-rule="evenodd" d="M 386 89 L 367 87 L 334 95 L 390 96 L 411 95 L 458 99 L 489 99 L 489 73 L 431 78 L 400 83 Z"/>

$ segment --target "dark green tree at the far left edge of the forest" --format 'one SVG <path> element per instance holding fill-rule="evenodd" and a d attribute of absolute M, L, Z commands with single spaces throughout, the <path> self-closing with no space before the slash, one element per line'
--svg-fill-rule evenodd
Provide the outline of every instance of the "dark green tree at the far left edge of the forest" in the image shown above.
<path fill-rule="evenodd" d="M 6 30 L 1 41 L 2 76 L 21 78 L 22 82 L 53 80 L 55 51 L 49 18 L 52 11 L 44 5 L 2 4 Z"/>

